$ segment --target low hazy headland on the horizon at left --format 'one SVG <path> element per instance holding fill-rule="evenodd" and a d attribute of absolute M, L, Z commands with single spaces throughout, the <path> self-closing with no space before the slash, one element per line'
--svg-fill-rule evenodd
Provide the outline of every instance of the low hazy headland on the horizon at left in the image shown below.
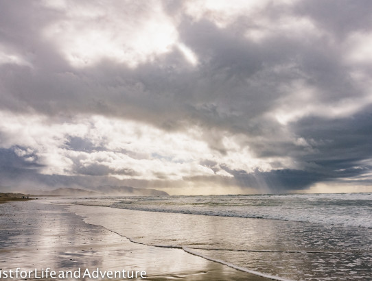
<path fill-rule="evenodd" d="M 48 196 L 168 196 L 164 191 L 156 189 L 135 188 L 132 186 L 98 186 L 94 190 L 85 190 L 81 188 L 57 188 L 52 191 L 27 191 L 27 193 L 35 195 Z"/>

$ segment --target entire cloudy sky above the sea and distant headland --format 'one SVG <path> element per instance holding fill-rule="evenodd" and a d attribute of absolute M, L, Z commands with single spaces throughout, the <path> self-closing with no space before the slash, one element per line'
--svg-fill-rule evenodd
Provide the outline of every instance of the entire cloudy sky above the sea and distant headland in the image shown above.
<path fill-rule="evenodd" d="M 372 192 L 371 13 L 0 0 L 0 188 Z"/>

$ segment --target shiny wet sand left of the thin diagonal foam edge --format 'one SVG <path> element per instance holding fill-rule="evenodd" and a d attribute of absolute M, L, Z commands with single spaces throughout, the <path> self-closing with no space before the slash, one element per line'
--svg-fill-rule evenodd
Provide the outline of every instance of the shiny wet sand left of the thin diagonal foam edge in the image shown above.
<path fill-rule="evenodd" d="M 19 267 L 41 271 L 49 267 L 55 271 L 79 268 L 93 271 L 99 268 L 102 271 L 146 271 L 146 280 L 268 280 L 181 249 L 132 243 L 106 228 L 84 222 L 69 208 L 45 204 L 42 200 L 1 204 L 1 270 Z"/>

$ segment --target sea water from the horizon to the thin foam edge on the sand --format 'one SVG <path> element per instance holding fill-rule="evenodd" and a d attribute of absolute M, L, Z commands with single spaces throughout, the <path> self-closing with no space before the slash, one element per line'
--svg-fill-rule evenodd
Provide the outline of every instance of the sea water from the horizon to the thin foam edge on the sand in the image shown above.
<path fill-rule="evenodd" d="M 372 280 L 372 194 L 85 199 L 123 210 L 104 225 L 277 280 Z"/>

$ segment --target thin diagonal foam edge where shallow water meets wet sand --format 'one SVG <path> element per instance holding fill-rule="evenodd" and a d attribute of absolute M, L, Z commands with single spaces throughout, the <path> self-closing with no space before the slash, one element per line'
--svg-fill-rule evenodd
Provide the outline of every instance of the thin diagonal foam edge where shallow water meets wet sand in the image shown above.
<path fill-rule="evenodd" d="M 84 221 L 84 219 L 82 219 L 82 220 Z M 89 225 L 99 226 L 101 228 L 104 228 L 105 230 L 108 230 L 109 232 L 113 232 L 113 233 L 115 233 L 115 234 L 117 234 L 121 237 L 124 237 L 125 239 L 128 239 L 128 241 L 130 241 L 132 243 L 136 243 L 136 244 L 139 244 L 139 245 L 145 245 L 145 246 L 150 246 L 150 247 L 159 247 L 159 248 L 182 249 L 187 254 L 198 256 L 200 258 L 204 258 L 205 260 L 211 260 L 212 262 L 218 262 L 221 265 L 226 265 L 227 267 L 231 267 L 231 268 L 239 270 L 239 271 L 243 271 L 243 272 L 246 272 L 246 273 L 251 273 L 255 276 L 261 276 L 261 277 L 264 277 L 264 278 L 268 278 L 268 279 L 271 279 L 271 280 L 278 280 L 278 281 L 292 281 L 290 279 L 284 279 L 284 278 L 281 278 L 279 276 L 271 276 L 271 275 L 268 275 L 268 274 L 265 274 L 265 273 L 261 273 L 259 271 L 254 271 L 254 270 L 251 270 L 251 269 L 247 269 L 245 267 L 238 267 L 237 265 L 233 265 L 232 263 L 225 262 L 224 260 L 218 260 L 216 258 L 209 258 L 207 256 L 203 256 L 202 254 L 199 254 L 198 252 L 192 251 L 191 248 L 189 248 L 189 247 L 182 247 L 182 246 L 177 246 L 177 245 L 150 245 L 150 244 L 146 244 L 146 243 L 142 243 L 142 242 L 130 239 L 129 237 L 127 237 L 123 234 L 120 234 L 119 232 L 116 232 L 114 230 L 109 230 L 108 228 L 105 228 L 103 225 L 97 225 L 97 224 L 94 224 L 94 223 L 87 223 L 86 221 L 84 221 L 84 223 L 89 224 Z"/>

